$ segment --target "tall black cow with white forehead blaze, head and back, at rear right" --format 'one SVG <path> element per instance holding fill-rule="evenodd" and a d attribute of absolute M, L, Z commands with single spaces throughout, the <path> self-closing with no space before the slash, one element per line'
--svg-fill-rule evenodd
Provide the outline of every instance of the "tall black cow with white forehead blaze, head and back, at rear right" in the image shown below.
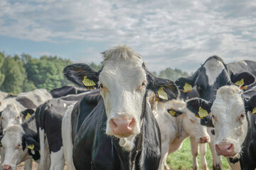
<path fill-rule="evenodd" d="M 256 76 L 256 62 L 242 60 L 225 64 L 220 57 L 213 56 L 209 57 L 191 77 L 181 77 L 175 83 L 184 92 L 196 86 L 199 97 L 210 101 L 221 86 L 238 84 L 245 89 L 254 81 L 244 78 L 252 75 Z"/>

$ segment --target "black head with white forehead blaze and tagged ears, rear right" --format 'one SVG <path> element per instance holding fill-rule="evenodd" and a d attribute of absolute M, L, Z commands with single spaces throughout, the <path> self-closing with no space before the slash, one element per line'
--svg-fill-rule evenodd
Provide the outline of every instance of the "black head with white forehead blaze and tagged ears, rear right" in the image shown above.
<path fill-rule="evenodd" d="M 220 57 L 213 56 L 208 58 L 191 77 L 181 77 L 175 83 L 185 92 L 196 86 L 199 97 L 210 101 L 221 86 L 240 84 L 242 79 L 242 87 L 255 81 L 255 77 L 248 72 L 233 74 Z"/>

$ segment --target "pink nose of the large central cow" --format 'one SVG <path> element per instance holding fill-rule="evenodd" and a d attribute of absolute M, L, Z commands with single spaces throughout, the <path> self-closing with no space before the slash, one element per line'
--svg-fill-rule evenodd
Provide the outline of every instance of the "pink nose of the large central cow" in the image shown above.
<path fill-rule="evenodd" d="M 120 117 L 110 120 L 110 128 L 114 135 L 129 136 L 132 134 L 135 126 L 134 118 L 129 119 L 126 117 Z"/>

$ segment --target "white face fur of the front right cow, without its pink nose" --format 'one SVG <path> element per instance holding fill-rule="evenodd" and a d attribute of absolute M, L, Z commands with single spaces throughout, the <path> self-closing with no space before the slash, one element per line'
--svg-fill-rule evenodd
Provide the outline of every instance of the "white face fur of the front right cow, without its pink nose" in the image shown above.
<path fill-rule="evenodd" d="M 242 91 L 237 86 L 223 86 L 217 91 L 211 114 L 214 115 L 215 145 L 227 142 L 234 145 L 235 157 L 240 157 L 241 145 L 247 135 L 247 120 L 244 116 L 245 104 L 242 100 Z"/>

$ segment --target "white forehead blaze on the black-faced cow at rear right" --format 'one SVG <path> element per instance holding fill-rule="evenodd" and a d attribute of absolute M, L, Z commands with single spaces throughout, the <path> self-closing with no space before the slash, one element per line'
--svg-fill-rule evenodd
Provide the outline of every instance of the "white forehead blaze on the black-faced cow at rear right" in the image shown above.
<path fill-rule="evenodd" d="M 206 69 L 206 75 L 208 77 L 208 84 L 211 86 L 215 83 L 218 75 L 225 69 L 222 62 L 215 60 L 214 58 L 208 60 L 203 67 Z"/>

